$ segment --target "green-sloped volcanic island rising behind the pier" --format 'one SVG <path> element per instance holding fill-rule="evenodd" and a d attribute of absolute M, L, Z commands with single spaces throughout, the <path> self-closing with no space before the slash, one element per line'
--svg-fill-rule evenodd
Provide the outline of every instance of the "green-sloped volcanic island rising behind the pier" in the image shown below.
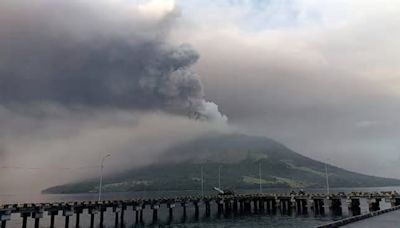
<path fill-rule="evenodd" d="M 209 133 L 169 148 L 160 162 L 105 178 L 103 191 L 193 190 L 218 186 L 218 167 L 225 188 L 325 188 L 325 164 L 302 156 L 279 142 L 260 136 Z M 328 165 L 331 187 L 380 187 L 400 185 L 400 180 L 363 175 Z M 68 183 L 43 193 L 98 191 L 98 179 Z"/>

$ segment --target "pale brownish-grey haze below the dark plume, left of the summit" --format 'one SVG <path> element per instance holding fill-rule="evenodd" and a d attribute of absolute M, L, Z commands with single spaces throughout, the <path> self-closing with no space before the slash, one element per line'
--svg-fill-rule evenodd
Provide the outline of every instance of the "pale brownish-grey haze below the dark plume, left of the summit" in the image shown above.
<path fill-rule="evenodd" d="M 29 112 L 0 106 L 0 180 L 6 183 L 1 193 L 26 194 L 95 177 L 105 154 L 111 154 L 106 174 L 145 166 L 177 143 L 229 131 L 225 124 L 162 112 L 60 105 L 24 109 Z"/>

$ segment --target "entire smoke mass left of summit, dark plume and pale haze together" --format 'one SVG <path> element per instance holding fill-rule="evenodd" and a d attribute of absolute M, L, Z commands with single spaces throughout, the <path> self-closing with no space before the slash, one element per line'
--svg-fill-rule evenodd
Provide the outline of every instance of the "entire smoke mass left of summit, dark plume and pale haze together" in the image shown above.
<path fill-rule="evenodd" d="M 0 1 L 0 191 L 96 176 L 106 153 L 106 173 L 146 165 L 226 129 L 199 54 L 169 38 L 178 18 L 168 1 Z"/>

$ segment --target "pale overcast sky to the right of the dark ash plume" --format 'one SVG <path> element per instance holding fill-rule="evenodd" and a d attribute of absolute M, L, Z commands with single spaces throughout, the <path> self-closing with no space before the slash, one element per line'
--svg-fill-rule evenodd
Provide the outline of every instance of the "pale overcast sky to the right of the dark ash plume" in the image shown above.
<path fill-rule="evenodd" d="M 207 1 L 206 1 L 207 2 Z M 400 177 L 398 1 L 181 1 L 207 98 L 230 123 Z"/>

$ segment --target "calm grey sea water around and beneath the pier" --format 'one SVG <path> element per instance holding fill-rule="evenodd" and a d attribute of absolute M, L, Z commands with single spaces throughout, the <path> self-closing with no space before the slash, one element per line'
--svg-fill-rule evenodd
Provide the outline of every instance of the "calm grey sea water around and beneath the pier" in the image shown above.
<path fill-rule="evenodd" d="M 265 189 L 264 192 L 289 192 L 288 189 Z M 307 191 L 307 189 L 306 189 Z M 324 192 L 323 189 L 310 189 L 307 192 Z M 351 191 L 398 191 L 400 187 L 384 187 L 384 188 L 336 188 L 331 189 L 331 192 L 351 192 Z M 241 191 L 242 193 L 254 193 L 254 191 Z M 105 193 L 103 199 L 105 200 L 117 200 L 117 199 L 135 199 L 135 198 L 156 198 L 156 197 L 174 197 L 174 196 L 188 196 L 198 194 L 198 191 L 167 191 L 167 192 L 129 192 L 129 193 Z M 210 194 L 215 194 L 210 192 Z M 52 195 L 52 194 L 32 194 L 32 195 L 1 195 L 0 204 L 8 203 L 34 203 L 34 202 L 60 202 L 60 201 L 80 201 L 80 200 L 96 200 L 97 194 L 67 194 L 67 195 Z M 133 210 L 128 207 L 125 211 L 125 227 L 315 227 L 316 225 L 323 224 L 329 221 L 337 220 L 349 216 L 346 204 L 343 204 L 343 212 L 341 215 L 333 215 L 329 211 L 324 216 L 316 216 L 312 211 L 305 215 L 284 214 L 281 215 L 279 212 L 276 215 L 268 215 L 266 213 L 256 215 L 229 215 L 229 216 L 218 216 L 216 214 L 216 207 L 211 207 L 211 217 L 204 217 L 204 208 L 200 207 L 200 216 L 196 218 L 194 216 L 194 208 L 189 207 L 187 211 L 186 219 L 182 216 L 182 208 L 177 205 L 174 209 L 174 218 L 168 219 L 168 210 L 161 208 L 159 210 L 159 221 L 157 224 L 152 223 L 151 210 L 146 209 L 144 213 L 144 224 L 135 225 L 135 216 Z M 384 201 L 381 202 L 381 209 L 388 208 L 390 205 Z M 368 205 L 366 201 L 361 201 L 361 213 L 368 212 Z M 98 215 L 96 215 L 96 221 Z M 14 214 L 12 220 L 7 223 L 7 228 L 21 227 L 21 218 L 18 214 Z M 70 218 L 70 227 L 74 227 L 75 218 Z M 48 227 L 49 217 L 44 215 L 41 219 L 41 227 Z M 114 214 L 111 209 L 108 209 L 105 213 L 105 226 L 114 227 Z M 33 227 L 33 219 L 28 220 L 28 227 Z M 64 227 L 64 217 L 59 215 L 56 216 L 56 227 Z M 81 227 L 89 227 L 89 216 L 86 211 L 81 215 Z"/>

